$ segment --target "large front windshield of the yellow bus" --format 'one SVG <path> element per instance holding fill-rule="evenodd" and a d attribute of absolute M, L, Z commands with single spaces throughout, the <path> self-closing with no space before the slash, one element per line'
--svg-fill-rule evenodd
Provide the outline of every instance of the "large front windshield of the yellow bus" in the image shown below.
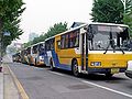
<path fill-rule="evenodd" d="M 89 25 L 89 48 L 94 51 L 128 51 L 129 32 L 127 26 Z"/>

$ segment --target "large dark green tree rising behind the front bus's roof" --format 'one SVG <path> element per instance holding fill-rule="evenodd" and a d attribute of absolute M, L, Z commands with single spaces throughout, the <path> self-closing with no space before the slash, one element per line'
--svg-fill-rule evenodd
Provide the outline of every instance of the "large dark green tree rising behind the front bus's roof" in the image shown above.
<path fill-rule="evenodd" d="M 106 23 L 123 23 L 123 3 L 121 0 L 95 0 L 92 21 Z"/>

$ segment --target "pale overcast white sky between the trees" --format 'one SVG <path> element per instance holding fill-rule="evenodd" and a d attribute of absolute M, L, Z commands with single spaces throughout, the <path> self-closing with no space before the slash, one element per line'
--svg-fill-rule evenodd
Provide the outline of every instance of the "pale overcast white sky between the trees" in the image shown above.
<path fill-rule="evenodd" d="M 92 0 L 23 0 L 26 9 L 22 13 L 20 28 L 23 30 L 21 40 L 15 42 L 26 43 L 30 33 L 41 35 L 55 23 L 67 22 L 68 28 L 73 22 L 91 22 L 90 14 Z"/>

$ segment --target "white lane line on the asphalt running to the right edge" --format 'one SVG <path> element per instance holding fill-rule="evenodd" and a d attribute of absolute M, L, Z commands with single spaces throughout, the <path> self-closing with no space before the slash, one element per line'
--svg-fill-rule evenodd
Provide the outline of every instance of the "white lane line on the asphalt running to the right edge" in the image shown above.
<path fill-rule="evenodd" d="M 92 85 L 92 86 L 96 86 L 96 87 L 99 87 L 99 88 L 102 88 L 102 89 L 106 89 L 106 90 L 109 90 L 109 91 L 112 91 L 112 92 L 116 92 L 116 94 L 119 94 L 119 95 L 122 95 L 122 96 L 125 96 L 125 97 L 129 97 L 129 98 L 132 98 L 132 95 L 129 95 L 129 94 L 125 94 L 125 92 L 122 92 L 122 91 L 118 91 L 118 90 L 114 90 L 114 89 L 111 89 L 111 88 L 108 88 L 108 87 L 105 87 L 105 86 L 100 86 L 100 85 L 97 85 L 95 82 L 87 81 L 87 80 L 81 80 L 81 81 L 85 82 L 85 84 L 89 84 L 89 85 Z"/>

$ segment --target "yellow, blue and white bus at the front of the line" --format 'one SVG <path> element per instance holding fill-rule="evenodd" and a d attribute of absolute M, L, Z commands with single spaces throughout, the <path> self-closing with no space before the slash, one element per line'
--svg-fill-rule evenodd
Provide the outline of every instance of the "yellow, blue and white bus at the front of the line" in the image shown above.
<path fill-rule="evenodd" d="M 44 62 L 51 69 L 111 77 L 124 73 L 132 50 L 129 26 L 114 23 L 81 24 L 45 40 Z"/>

